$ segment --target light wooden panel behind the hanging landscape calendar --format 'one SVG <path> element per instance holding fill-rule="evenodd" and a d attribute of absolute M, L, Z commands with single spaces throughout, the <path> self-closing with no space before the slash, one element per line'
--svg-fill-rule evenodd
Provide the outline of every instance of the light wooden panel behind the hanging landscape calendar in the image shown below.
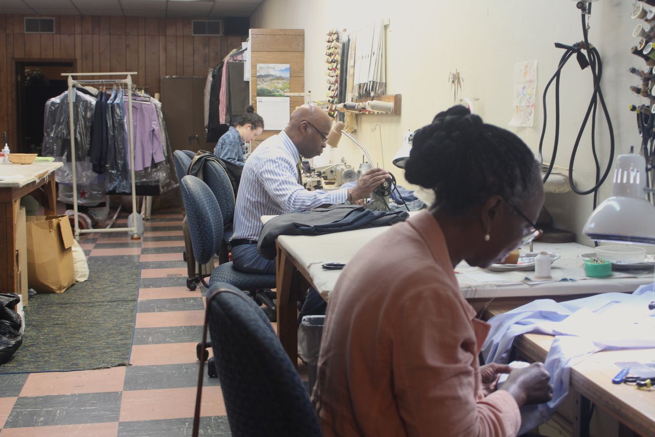
<path fill-rule="evenodd" d="M 305 30 L 251 29 L 250 30 L 250 96 L 257 110 L 257 64 L 289 64 L 290 93 L 305 93 Z M 304 97 L 290 97 L 290 112 L 305 102 Z M 266 126 L 266 120 L 264 120 Z M 255 140 L 257 147 L 278 131 L 265 130 Z"/>

